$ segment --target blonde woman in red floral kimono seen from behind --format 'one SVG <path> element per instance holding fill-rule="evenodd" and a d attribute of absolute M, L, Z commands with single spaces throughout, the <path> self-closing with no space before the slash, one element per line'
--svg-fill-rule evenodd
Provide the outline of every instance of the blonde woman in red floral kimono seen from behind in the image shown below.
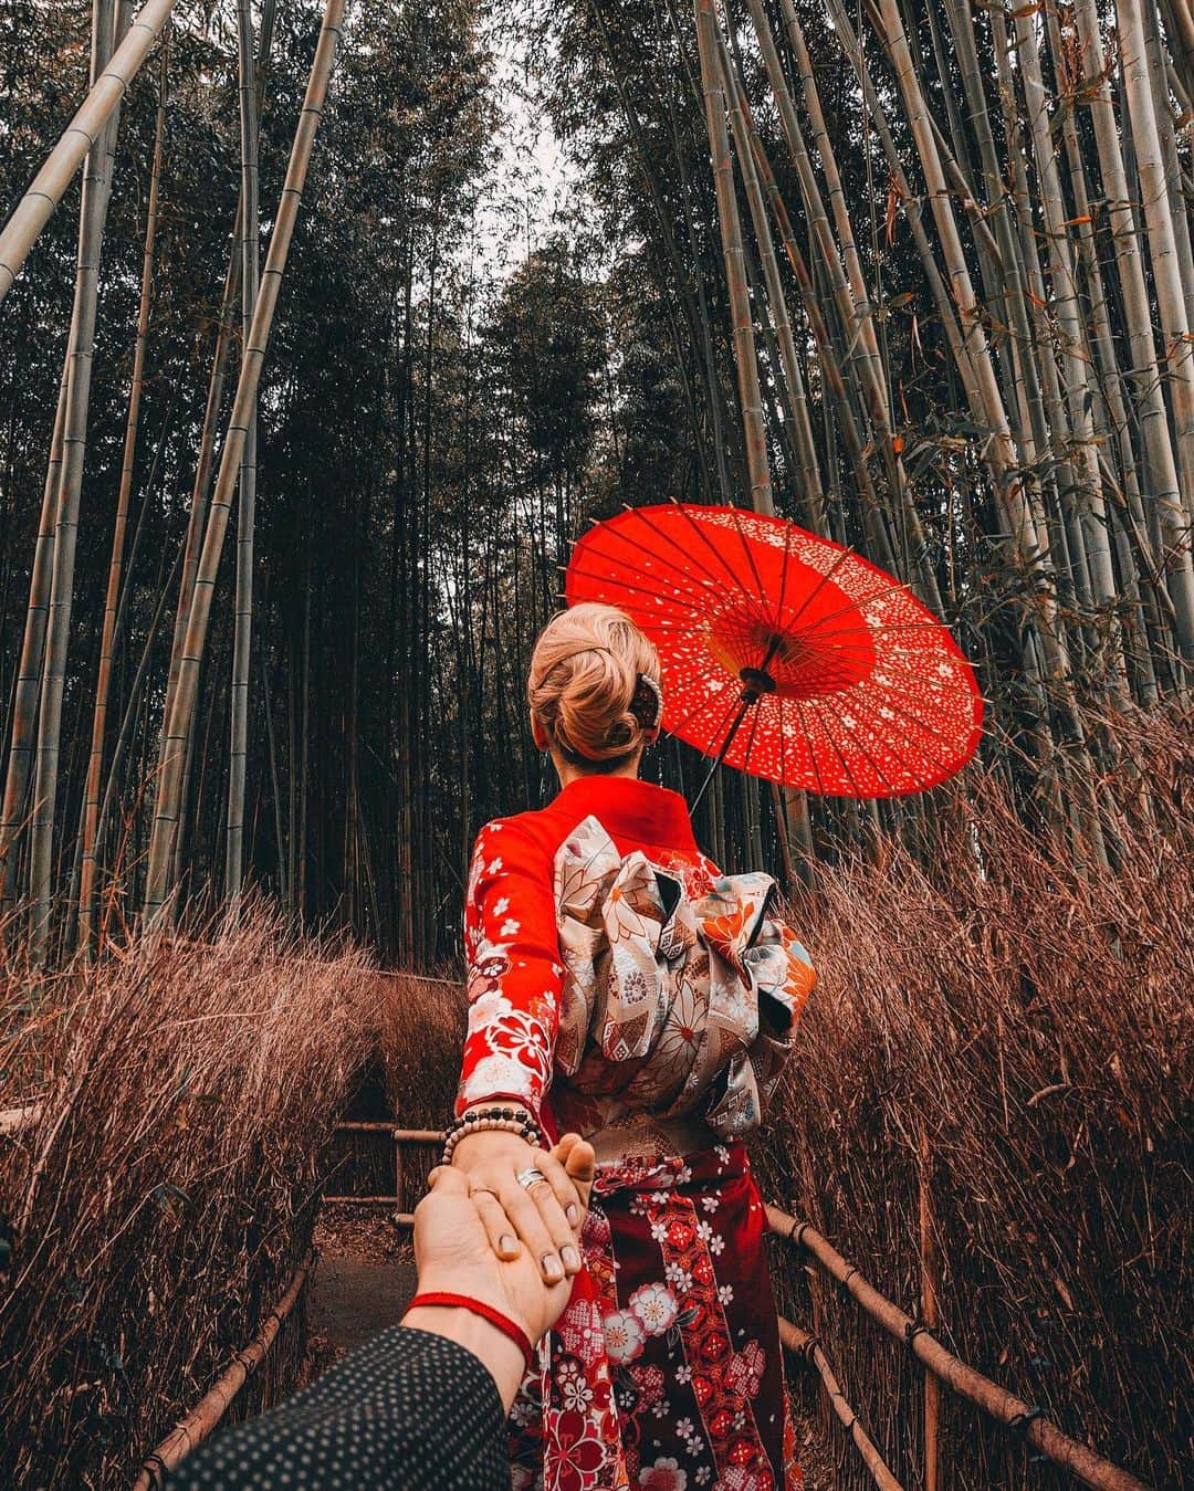
<path fill-rule="evenodd" d="M 684 799 L 638 780 L 662 714 L 638 628 L 560 613 L 528 693 L 562 790 L 477 838 L 450 1138 L 493 1248 L 575 1275 L 511 1413 L 516 1491 L 799 1487 L 742 1135 L 812 969 L 769 877 L 721 875 Z M 583 1260 L 541 1148 L 565 1129 L 598 1153 Z"/>

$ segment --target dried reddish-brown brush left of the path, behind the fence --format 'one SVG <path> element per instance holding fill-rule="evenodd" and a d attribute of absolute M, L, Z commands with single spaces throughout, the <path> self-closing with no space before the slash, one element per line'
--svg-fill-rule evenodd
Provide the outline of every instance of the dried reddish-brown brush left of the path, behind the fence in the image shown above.
<path fill-rule="evenodd" d="M 128 1485 L 310 1243 L 377 1039 L 365 959 L 265 917 L 3 987 L 0 1484 Z M 237 1410 L 294 1373 L 301 1321 Z"/>

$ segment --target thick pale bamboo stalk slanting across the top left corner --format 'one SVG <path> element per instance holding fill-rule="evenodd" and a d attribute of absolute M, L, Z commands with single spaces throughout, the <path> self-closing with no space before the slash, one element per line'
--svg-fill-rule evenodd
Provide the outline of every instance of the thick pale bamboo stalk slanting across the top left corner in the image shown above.
<path fill-rule="evenodd" d="M 30 249 L 37 242 L 51 213 L 63 200 L 75 173 L 97 145 L 104 127 L 119 106 L 130 82 L 137 76 L 177 0 L 146 0 L 128 34 L 112 60 L 92 81 L 61 140 L 46 157 L 25 195 L 0 233 L 0 301 L 12 289 Z"/>

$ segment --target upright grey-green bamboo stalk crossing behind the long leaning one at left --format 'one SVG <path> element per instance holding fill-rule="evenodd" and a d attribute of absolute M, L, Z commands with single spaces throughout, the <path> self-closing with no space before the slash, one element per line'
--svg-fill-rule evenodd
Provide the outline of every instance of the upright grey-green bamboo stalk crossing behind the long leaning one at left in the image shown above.
<path fill-rule="evenodd" d="M 237 0 L 240 92 L 240 325 L 247 355 L 259 277 L 258 112 L 252 0 Z M 231 743 L 224 893 L 233 914 L 244 880 L 244 783 L 249 757 L 249 672 L 253 625 L 253 528 L 256 513 L 256 397 L 244 431 L 237 507 L 237 573 L 233 643 Z"/>

